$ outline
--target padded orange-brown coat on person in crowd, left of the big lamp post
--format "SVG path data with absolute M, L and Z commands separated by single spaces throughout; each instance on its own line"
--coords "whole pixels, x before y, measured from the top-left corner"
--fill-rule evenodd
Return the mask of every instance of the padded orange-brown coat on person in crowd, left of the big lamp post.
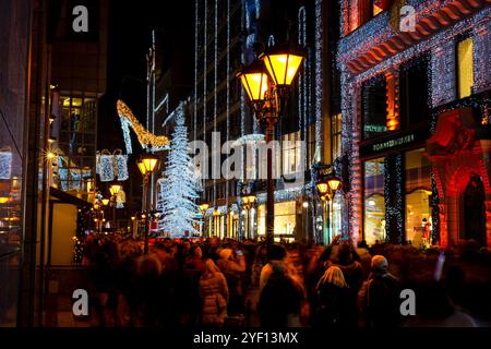
M 214 273 L 200 278 L 203 300 L 203 324 L 223 324 L 227 311 L 228 287 L 224 274 Z

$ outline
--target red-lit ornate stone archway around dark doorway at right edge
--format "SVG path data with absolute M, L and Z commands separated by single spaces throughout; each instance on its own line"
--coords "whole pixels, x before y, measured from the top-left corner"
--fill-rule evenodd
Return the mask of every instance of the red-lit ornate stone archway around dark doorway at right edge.
M 471 176 L 484 186 L 486 242 L 491 245 L 491 141 L 476 140 L 471 111 L 456 109 L 439 116 L 436 131 L 427 142 L 440 198 L 440 244 L 464 239 L 463 200 Z

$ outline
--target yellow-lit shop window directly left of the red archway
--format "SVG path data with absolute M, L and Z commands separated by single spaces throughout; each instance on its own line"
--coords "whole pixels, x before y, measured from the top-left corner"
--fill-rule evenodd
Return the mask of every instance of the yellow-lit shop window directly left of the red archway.
M 422 244 L 428 244 L 432 230 L 431 167 L 423 149 L 407 152 L 405 164 L 406 240 L 417 248 L 422 248 Z

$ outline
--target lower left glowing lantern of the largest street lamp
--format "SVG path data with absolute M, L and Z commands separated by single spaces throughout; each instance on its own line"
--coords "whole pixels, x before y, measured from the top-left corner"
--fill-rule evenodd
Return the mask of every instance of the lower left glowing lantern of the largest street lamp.
M 252 103 L 263 101 L 268 89 L 268 79 L 261 61 L 241 69 L 237 77 L 240 79 L 243 88 Z

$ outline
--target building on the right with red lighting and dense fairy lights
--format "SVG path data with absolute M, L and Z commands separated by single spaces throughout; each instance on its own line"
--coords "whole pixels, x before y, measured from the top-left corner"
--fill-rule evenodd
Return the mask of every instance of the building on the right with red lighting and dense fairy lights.
M 490 1 L 339 3 L 351 238 L 490 245 Z

